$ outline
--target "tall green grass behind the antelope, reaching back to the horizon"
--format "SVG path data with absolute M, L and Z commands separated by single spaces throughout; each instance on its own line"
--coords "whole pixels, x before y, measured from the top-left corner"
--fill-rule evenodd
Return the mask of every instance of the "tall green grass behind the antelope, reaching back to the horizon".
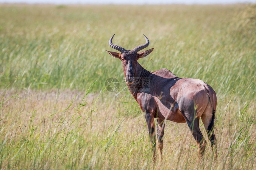
M 114 51 L 109 38 L 116 33 L 113 42 L 132 49 L 144 33 L 155 48 L 139 61 L 146 69 L 202 79 L 219 94 L 255 94 L 255 29 L 238 24 L 244 5 L 0 8 L 1 88 L 82 90 L 98 80 L 99 92 L 108 77 L 123 77 L 104 51 Z

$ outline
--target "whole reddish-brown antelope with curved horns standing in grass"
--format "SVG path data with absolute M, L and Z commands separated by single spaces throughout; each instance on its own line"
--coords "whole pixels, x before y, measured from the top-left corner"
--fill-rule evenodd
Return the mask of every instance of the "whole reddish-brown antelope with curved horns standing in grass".
M 122 61 L 128 89 L 145 113 L 154 161 L 156 145 L 160 151 L 160 157 L 163 158 L 163 135 L 166 120 L 188 124 L 199 147 L 199 157 L 202 157 L 206 141 L 199 128 L 200 118 L 207 131 L 215 158 L 217 158 L 217 143 L 214 134 L 217 97 L 212 87 L 199 79 L 179 78 L 168 69 L 152 72 L 144 69 L 138 60 L 149 55 L 154 48 L 143 52 L 139 51 L 149 46 L 149 39 L 143 34 L 146 39 L 145 44 L 132 50 L 126 50 L 112 43 L 114 35 L 110 38 L 109 45 L 121 53 L 106 51 Z M 140 81 L 142 79 L 150 80 L 150 83 L 135 82 L 138 78 Z M 157 143 L 154 118 L 157 119 Z

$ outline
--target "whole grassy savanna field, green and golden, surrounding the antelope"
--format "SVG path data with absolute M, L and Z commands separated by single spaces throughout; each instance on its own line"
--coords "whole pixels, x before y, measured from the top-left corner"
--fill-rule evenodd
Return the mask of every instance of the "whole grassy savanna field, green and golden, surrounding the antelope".
M 0 169 L 256 169 L 256 6 L 0 5 Z M 105 50 L 150 41 L 139 63 L 216 91 L 218 159 L 166 122 L 163 160 Z M 105 81 L 120 81 L 116 92 Z M 155 121 L 156 123 L 156 121 Z M 157 152 L 159 153 L 159 152 Z

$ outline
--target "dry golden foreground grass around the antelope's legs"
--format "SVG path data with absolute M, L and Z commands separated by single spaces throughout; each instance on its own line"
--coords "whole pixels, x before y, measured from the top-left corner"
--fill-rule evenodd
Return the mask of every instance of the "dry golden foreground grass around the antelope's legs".
M 4 101 L 15 94 L 7 90 L 1 98 Z M 226 109 L 227 116 L 219 121 L 216 132 L 216 162 L 208 140 L 204 158 L 199 161 L 198 148 L 187 124 L 167 121 L 163 161 L 154 165 L 144 116 L 132 116 L 134 110 L 123 108 L 131 102 L 124 103 L 127 97 L 120 96 L 89 94 L 82 102 L 84 94 L 77 91 L 19 92 L 19 97 L 7 100 L 1 108 L 1 167 L 255 169 L 254 106 L 246 108 L 243 114 L 244 105 L 237 102 L 232 101 L 228 107 L 218 104 L 217 116 L 221 110 L 225 114 Z M 137 103 L 132 105 L 136 107 Z M 207 136 L 205 130 L 202 133 Z

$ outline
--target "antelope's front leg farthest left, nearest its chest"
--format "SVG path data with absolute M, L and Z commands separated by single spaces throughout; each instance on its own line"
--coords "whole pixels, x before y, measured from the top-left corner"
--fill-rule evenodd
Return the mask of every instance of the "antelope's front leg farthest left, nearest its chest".
M 146 122 L 149 128 L 149 138 L 151 141 L 151 147 L 153 152 L 153 159 L 155 162 L 156 155 L 156 133 L 155 133 L 155 124 L 154 124 L 154 115 L 152 113 L 145 114 Z

